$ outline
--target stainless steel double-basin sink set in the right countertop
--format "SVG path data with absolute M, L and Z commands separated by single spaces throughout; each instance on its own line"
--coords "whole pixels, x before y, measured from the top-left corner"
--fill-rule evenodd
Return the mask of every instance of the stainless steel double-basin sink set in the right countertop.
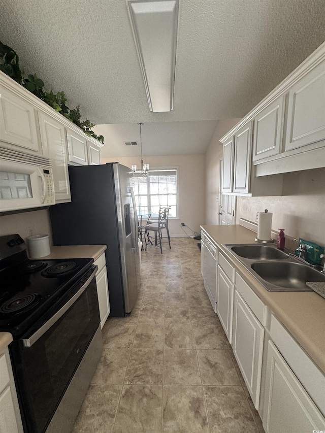
M 236 257 L 268 291 L 312 291 L 306 282 L 325 282 L 325 275 L 274 244 L 226 244 Z

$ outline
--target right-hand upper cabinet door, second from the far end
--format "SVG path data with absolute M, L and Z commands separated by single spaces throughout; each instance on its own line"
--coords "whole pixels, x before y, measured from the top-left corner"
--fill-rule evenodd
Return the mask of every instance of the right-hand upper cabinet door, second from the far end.
M 249 122 L 235 134 L 233 192 L 249 192 L 251 146 L 252 122 Z

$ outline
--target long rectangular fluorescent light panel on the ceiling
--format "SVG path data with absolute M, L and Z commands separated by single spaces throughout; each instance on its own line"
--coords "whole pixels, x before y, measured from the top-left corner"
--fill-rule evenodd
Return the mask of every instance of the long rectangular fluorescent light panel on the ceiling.
M 149 109 L 174 103 L 179 0 L 127 0 Z

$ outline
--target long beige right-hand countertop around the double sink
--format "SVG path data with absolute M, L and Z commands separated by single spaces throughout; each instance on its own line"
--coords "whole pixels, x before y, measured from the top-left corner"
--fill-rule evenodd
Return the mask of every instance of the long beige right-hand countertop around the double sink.
M 222 244 L 255 243 L 256 233 L 241 225 L 203 225 L 241 277 L 325 373 L 325 299 L 315 292 L 269 292 Z

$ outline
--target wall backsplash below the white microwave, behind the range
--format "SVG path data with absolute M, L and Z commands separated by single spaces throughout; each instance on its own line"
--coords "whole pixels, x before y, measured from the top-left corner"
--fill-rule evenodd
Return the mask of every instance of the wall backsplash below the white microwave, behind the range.
M 26 241 L 27 236 L 29 236 L 28 228 L 34 229 L 35 235 L 50 235 L 52 245 L 52 230 L 48 210 L 0 216 L 0 236 L 18 233 Z

